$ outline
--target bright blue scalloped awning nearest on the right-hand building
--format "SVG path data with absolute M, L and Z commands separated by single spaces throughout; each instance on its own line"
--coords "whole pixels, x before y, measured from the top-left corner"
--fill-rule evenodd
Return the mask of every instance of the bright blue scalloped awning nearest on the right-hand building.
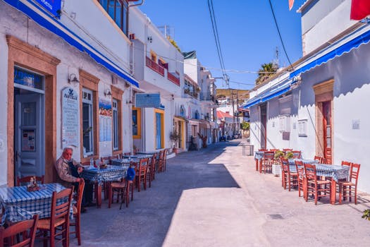
M 319 54 L 316 54 L 316 56 L 318 56 L 317 59 L 293 71 L 292 73 L 290 73 L 289 77 L 293 78 L 295 76 L 300 75 L 300 73 L 304 73 L 316 66 L 320 66 L 321 64 L 327 63 L 331 59 L 334 59 L 336 56 L 341 56 L 344 53 L 348 53 L 352 49 L 358 48 L 361 44 L 366 44 L 369 41 L 370 41 L 370 30 L 364 32 L 362 35 L 355 37 L 353 40 L 345 42 L 345 44 L 340 45 L 340 47 L 337 47 L 331 50 L 330 52 L 327 52 L 326 54 L 323 54 L 321 56 Z

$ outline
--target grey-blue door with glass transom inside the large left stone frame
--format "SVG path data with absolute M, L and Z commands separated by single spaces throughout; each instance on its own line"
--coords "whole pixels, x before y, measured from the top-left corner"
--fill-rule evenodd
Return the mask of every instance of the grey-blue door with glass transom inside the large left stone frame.
M 14 69 L 14 182 L 45 174 L 44 78 Z

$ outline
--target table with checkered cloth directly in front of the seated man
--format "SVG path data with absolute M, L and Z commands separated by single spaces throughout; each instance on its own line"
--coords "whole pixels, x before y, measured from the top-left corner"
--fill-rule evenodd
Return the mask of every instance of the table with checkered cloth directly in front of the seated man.
M 97 198 L 97 207 L 101 207 L 101 183 L 120 181 L 123 177 L 126 176 L 128 166 L 115 166 L 107 165 L 106 168 L 90 168 L 86 167 L 80 176 L 83 179 L 90 180 L 92 183 L 95 183 L 97 189 L 95 190 L 95 195 Z

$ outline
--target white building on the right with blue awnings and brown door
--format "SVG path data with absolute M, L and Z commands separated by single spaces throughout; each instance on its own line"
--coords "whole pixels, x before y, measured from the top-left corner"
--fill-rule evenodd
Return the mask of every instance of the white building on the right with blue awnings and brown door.
M 361 164 L 359 189 L 370 192 L 370 26 L 350 20 L 350 0 L 306 1 L 304 57 L 251 92 L 251 143 L 290 147 L 305 158 Z

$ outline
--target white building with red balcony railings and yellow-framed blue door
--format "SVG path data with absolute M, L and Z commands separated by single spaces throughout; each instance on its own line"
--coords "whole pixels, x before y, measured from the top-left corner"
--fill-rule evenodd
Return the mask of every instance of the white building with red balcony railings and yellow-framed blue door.
M 132 98 L 133 143 L 145 151 L 171 148 L 170 135 L 175 126 L 185 133 L 183 119 L 175 119 L 175 99 L 181 97 L 184 85 L 183 54 L 138 8 L 130 9 L 129 20 L 132 68 L 140 81 L 140 90 L 134 90 L 134 95 L 145 92 L 160 99 L 156 106 L 139 107 Z M 185 138 L 180 144 L 185 148 Z

